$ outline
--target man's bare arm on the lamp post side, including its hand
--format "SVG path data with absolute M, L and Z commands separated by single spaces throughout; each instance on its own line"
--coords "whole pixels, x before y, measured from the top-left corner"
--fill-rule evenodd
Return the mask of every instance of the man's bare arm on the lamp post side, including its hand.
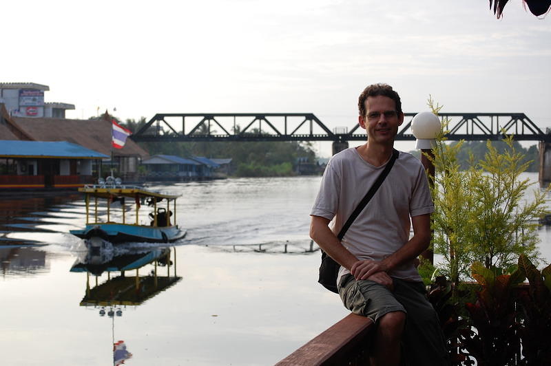
M 350 272 L 355 279 L 368 279 L 377 272 L 388 272 L 402 266 L 408 261 L 413 261 L 430 245 L 430 213 L 411 218 L 413 225 L 413 237 L 392 255 L 382 261 L 357 261 Z

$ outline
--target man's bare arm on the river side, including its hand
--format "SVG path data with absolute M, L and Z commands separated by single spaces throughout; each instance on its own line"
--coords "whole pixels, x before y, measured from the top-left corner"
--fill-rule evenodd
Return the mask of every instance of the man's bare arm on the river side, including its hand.
M 357 266 L 357 263 L 362 263 L 364 261 L 358 260 L 355 255 L 353 255 L 348 249 L 344 248 L 340 240 L 337 238 L 337 235 L 331 231 L 329 228 L 329 219 L 321 216 L 312 216 L 310 223 L 310 237 L 315 241 L 324 252 L 333 258 L 337 263 L 339 263 L 344 268 L 351 270 L 354 266 Z M 351 270 L 352 275 L 355 279 L 360 279 L 354 275 Z M 364 277 L 362 279 L 370 279 L 377 283 L 386 286 L 387 288 L 393 288 L 393 281 L 386 272 L 375 271 L 371 275 Z

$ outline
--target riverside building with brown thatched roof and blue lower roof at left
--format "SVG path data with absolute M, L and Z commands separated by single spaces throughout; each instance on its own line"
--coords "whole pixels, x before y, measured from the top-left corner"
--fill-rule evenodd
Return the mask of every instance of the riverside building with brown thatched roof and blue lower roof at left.
M 15 140 L 71 143 L 101 154 L 101 157 L 63 155 L 63 144 L 51 145 L 56 146 L 55 154 L 50 153 L 48 157 L 44 157 L 30 148 L 50 147 L 49 144 L 22 143 L 19 147 Z M 14 147 L 18 147 L 18 150 L 21 148 L 21 151 L 10 153 Z M 0 103 L 0 150 L 2 148 L 4 154 L 0 154 L 0 189 L 12 184 L 10 182 L 14 182 L 14 175 L 18 175 L 17 186 L 20 187 L 25 184 L 30 184 L 30 188 L 32 184 L 43 185 L 45 188 L 82 185 L 89 180 L 91 182 L 92 177 L 105 177 L 111 166 L 114 166 L 117 176 L 124 182 L 135 182 L 139 180 L 139 164 L 143 159 L 149 158 L 147 151 L 130 139 L 127 139 L 122 149 L 112 148 L 111 116 L 104 115 L 94 120 L 16 117 L 10 116 Z M 103 167 L 102 160 L 107 160 L 109 166 Z M 2 183 L 2 180 L 7 182 Z M 38 183 L 32 183 L 34 181 Z

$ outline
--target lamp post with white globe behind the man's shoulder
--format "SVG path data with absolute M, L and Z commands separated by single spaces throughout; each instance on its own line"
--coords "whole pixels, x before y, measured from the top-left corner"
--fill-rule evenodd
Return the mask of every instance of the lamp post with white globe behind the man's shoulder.
M 433 163 L 435 155 L 433 148 L 436 146 L 436 136 L 438 136 L 440 129 L 440 120 L 432 112 L 418 113 L 411 120 L 411 131 L 413 132 L 413 136 L 417 138 L 415 148 L 421 149 L 421 163 L 428 175 L 428 184 L 430 184 L 431 188 L 435 179 L 435 164 Z M 422 253 L 422 256 L 428 259 L 430 263 L 434 263 L 433 250 L 426 250 Z

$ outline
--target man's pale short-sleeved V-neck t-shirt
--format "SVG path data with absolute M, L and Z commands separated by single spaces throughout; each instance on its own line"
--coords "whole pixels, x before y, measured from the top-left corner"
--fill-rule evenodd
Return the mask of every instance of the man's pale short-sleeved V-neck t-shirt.
M 332 220 L 330 227 L 337 235 L 384 166 L 386 163 L 369 164 L 355 147 L 337 153 L 326 166 L 310 215 Z M 400 151 L 390 173 L 344 235 L 342 245 L 358 259 L 381 261 L 409 240 L 410 216 L 433 211 L 421 162 Z M 350 273 L 349 270 L 341 267 L 337 281 L 346 273 Z M 421 281 L 413 262 L 395 268 L 388 275 Z

